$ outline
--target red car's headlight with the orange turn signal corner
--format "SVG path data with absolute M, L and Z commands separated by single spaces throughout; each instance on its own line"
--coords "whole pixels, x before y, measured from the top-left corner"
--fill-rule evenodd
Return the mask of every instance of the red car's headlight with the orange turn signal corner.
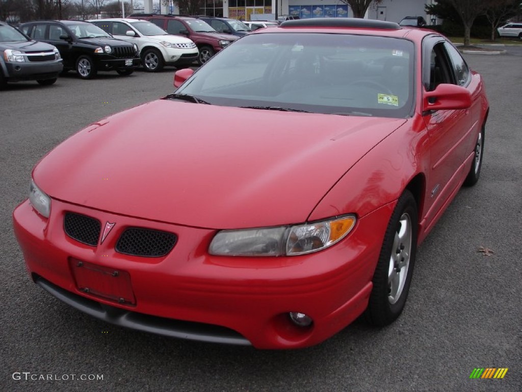
M 355 221 L 354 215 L 346 215 L 295 226 L 221 230 L 212 239 L 209 253 L 219 256 L 305 255 L 328 248 L 346 237 Z

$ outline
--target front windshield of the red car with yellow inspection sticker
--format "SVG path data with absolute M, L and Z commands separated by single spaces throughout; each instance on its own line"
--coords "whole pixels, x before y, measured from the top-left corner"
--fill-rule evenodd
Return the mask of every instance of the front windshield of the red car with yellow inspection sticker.
M 413 50 L 396 38 L 250 34 L 176 93 L 211 105 L 405 118 L 413 105 Z

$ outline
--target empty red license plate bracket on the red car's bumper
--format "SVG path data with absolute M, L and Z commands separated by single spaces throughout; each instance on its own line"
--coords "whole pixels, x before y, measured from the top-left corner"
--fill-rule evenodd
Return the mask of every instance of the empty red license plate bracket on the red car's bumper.
M 127 271 L 69 259 L 76 287 L 82 293 L 108 299 L 122 305 L 136 305 L 131 275 Z

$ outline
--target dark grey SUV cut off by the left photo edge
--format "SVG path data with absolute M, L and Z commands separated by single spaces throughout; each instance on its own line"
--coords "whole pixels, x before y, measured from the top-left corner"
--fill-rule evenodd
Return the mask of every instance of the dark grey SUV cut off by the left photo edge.
M 53 45 L 31 41 L 14 27 L 0 22 L 0 90 L 7 82 L 18 80 L 51 85 L 62 68 L 60 52 Z

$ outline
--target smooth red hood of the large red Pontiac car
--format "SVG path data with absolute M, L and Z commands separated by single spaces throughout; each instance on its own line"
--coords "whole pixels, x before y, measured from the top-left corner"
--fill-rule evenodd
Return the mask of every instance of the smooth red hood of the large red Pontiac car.
M 300 223 L 405 122 L 157 100 L 70 137 L 33 178 L 52 198 L 150 220 L 222 229 Z

